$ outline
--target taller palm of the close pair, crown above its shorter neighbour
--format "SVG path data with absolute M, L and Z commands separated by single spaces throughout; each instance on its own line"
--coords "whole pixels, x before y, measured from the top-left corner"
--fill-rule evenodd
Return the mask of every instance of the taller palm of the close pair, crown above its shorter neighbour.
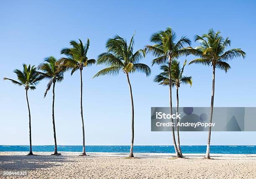
M 165 64 L 168 61 L 168 74 L 169 74 L 169 97 L 170 97 L 170 110 L 172 115 L 172 79 L 171 79 L 171 68 L 172 60 L 178 59 L 179 56 L 188 55 L 191 53 L 192 47 L 184 47 L 190 45 L 190 40 L 186 36 L 182 36 L 179 41 L 176 41 L 176 33 L 172 28 L 166 28 L 165 31 L 159 31 L 153 33 L 150 41 L 154 44 L 153 46 L 146 46 L 146 52 L 152 53 L 156 56 L 156 59 L 152 60 L 152 66 L 154 64 Z M 173 122 L 173 119 L 171 119 Z M 177 157 L 181 157 L 174 134 L 174 127 L 172 127 L 172 140 L 174 143 L 174 149 Z

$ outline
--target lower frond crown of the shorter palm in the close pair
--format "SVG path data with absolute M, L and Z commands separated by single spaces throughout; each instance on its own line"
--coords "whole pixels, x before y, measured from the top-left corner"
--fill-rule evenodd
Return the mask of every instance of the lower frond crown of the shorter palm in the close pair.
M 179 64 L 179 61 L 173 60 L 172 61 L 172 69 L 171 69 L 171 79 L 172 79 L 172 87 L 180 87 L 180 84 L 190 84 L 192 85 L 192 77 L 189 76 L 183 76 L 184 73 L 184 67 L 187 63 L 187 60 L 185 60 L 182 68 Z M 168 72 L 168 66 L 162 65 L 160 67 L 161 73 L 159 75 L 156 75 L 154 78 L 154 82 L 158 82 L 162 85 L 169 85 L 169 72 Z

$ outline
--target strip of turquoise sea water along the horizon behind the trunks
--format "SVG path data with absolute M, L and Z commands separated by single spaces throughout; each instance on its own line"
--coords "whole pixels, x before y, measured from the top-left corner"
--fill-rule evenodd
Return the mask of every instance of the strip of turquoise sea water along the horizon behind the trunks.
M 182 153 L 205 153 L 206 146 L 181 146 Z M 0 146 L 1 151 L 29 151 L 29 146 Z M 33 146 L 33 151 L 51 152 L 54 146 Z M 58 146 L 58 151 L 81 152 L 82 146 Z M 86 146 L 87 152 L 128 153 L 130 146 Z M 211 146 L 211 153 L 256 154 L 256 146 Z M 133 152 L 174 153 L 173 146 L 134 146 Z

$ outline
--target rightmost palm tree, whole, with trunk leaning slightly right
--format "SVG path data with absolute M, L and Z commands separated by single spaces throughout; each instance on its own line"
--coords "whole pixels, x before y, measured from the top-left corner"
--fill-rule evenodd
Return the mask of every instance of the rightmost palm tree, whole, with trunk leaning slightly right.
M 236 57 L 242 56 L 245 58 L 246 53 L 241 49 L 225 49 L 230 46 L 230 39 L 223 38 L 220 35 L 220 31 L 216 32 L 210 29 L 207 34 L 202 36 L 195 36 L 195 41 L 200 42 L 200 46 L 193 49 L 193 54 L 199 56 L 199 59 L 195 59 L 189 62 L 189 64 L 202 64 L 206 66 L 212 66 L 212 97 L 211 97 L 211 110 L 210 110 L 210 123 L 212 123 L 213 113 L 213 100 L 215 90 L 215 69 L 225 70 L 230 69 L 230 65 L 226 62 Z M 211 126 L 208 130 L 208 141 L 205 159 L 210 159 L 210 140 L 211 140 Z

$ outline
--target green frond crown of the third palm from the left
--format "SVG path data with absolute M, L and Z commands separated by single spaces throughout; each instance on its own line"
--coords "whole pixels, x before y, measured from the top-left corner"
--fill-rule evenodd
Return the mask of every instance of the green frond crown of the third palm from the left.
M 87 39 L 87 43 L 83 44 L 79 39 L 79 42 L 70 41 L 72 48 L 64 48 L 61 50 L 61 54 L 66 55 L 66 58 L 61 58 L 60 63 L 62 66 L 66 66 L 71 69 L 71 75 L 78 69 L 83 69 L 83 67 L 91 66 L 95 64 L 95 59 L 87 58 L 87 52 L 90 46 L 90 40 Z

